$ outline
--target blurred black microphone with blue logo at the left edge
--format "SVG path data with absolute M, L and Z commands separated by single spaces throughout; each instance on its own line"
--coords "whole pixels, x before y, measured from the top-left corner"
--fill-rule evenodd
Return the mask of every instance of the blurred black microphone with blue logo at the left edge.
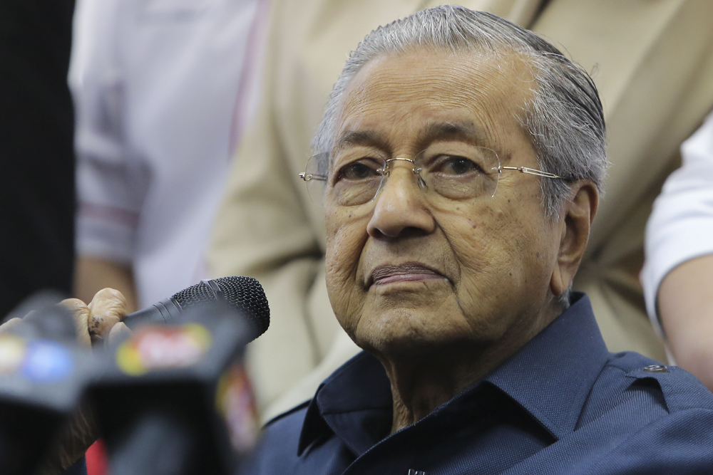
M 34 473 L 91 377 L 69 310 L 39 308 L 0 335 L 0 472 Z

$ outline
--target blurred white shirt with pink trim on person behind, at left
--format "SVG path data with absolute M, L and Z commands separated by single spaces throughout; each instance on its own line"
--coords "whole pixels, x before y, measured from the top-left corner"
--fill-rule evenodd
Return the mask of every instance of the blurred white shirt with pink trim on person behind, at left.
M 204 276 L 259 1 L 78 1 L 77 251 L 132 266 L 140 306 Z

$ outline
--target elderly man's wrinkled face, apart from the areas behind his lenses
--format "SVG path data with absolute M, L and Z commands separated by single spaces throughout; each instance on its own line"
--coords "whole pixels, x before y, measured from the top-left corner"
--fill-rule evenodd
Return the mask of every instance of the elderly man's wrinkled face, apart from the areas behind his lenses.
M 480 146 L 503 166 L 538 168 L 518 122 L 532 79 L 514 54 L 377 58 L 345 91 L 335 143 L 387 158 Z M 410 162 L 390 167 L 372 202 L 340 206 L 327 192 L 327 287 L 354 341 L 413 353 L 537 333 L 560 237 L 538 178 L 506 171 L 494 197 L 433 199 Z

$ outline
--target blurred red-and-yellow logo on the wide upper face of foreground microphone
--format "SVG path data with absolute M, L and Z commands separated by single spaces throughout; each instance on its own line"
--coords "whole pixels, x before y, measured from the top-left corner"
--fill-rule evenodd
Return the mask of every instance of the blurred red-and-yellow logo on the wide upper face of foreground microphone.
M 210 332 L 197 323 L 144 327 L 116 350 L 116 365 L 130 376 L 151 370 L 190 367 L 210 348 Z

